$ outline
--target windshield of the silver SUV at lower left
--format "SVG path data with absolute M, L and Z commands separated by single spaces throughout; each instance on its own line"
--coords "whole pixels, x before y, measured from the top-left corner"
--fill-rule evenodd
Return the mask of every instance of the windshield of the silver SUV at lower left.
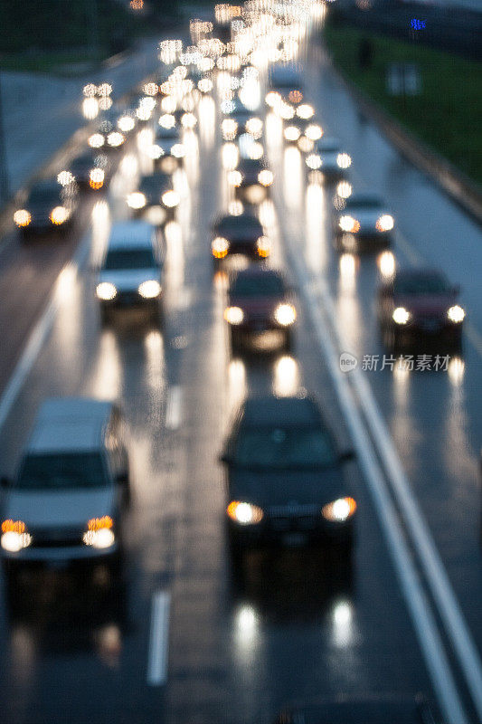
M 17 481 L 17 487 L 26 491 L 101 488 L 108 484 L 98 452 L 30 455 Z

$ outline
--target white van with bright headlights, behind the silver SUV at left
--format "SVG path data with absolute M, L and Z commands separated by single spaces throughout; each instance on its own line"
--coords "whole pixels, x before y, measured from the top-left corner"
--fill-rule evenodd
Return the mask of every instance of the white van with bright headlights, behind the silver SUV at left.
M 160 319 L 163 273 L 164 246 L 156 227 L 137 220 L 114 224 L 96 286 L 102 319 L 129 308 Z

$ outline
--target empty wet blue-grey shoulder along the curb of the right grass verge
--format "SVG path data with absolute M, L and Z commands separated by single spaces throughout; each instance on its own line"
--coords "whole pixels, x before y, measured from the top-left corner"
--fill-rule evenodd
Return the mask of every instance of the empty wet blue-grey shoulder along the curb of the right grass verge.
M 309 50 L 307 98 L 315 103 L 326 133 L 343 141 L 353 157 L 354 173 L 366 189 L 383 195 L 421 261 L 446 270 L 450 280 L 461 286 L 461 299 L 480 334 L 482 310 L 475 273 L 482 268 L 480 227 L 362 116 L 336 80 L 316 38 Z

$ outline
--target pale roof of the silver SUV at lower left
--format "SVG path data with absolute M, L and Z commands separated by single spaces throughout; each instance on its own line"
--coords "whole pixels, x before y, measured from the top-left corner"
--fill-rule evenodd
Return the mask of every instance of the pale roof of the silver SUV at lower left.
M 86 397 L 48 399 L 37 413 L 27 452 L 96 450 L 111 411 L 111 403 Z

